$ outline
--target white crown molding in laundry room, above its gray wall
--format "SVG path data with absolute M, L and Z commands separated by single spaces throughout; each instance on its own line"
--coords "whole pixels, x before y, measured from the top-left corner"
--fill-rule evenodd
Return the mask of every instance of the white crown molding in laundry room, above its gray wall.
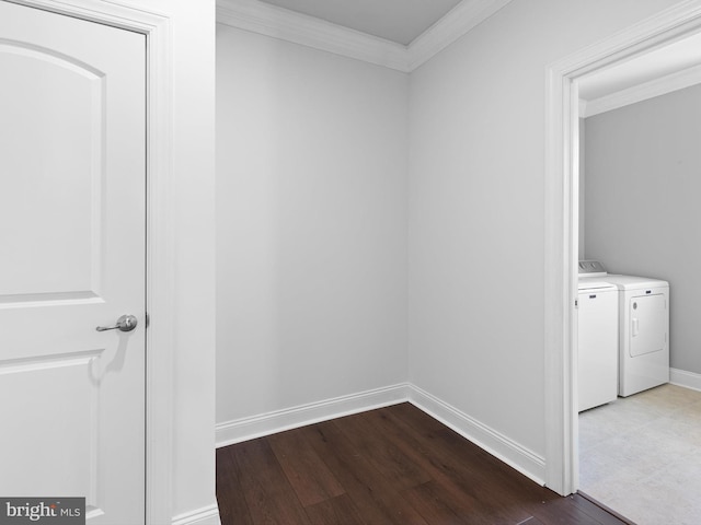
M 683 90 L 699 83 L 701 83 L 701 66 L 694 66 L 617 93 L 587 101 L 586 108 L 582 115 L 584 117 L 593 117 L 594 115 L 618 109 L 655 96 L 666 95 L 673 91 Z

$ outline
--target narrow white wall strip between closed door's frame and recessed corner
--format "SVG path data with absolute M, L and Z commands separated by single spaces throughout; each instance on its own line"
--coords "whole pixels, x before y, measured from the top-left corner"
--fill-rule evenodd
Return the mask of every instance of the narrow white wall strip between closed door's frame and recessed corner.
M 215 2 L 173 13 L 173 200 L 177 209 L 173 513 L 216 505 Z M 204 525 L 204 524 L 203 524 Z

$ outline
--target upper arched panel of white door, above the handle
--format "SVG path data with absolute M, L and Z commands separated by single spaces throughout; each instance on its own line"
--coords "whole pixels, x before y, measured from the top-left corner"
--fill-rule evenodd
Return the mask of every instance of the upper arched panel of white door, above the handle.
M 90 291 L 99 281 L 105 78 L 21 42 L 0 44 L 0 70 L 15 78 L 0 86 L 3 121 L 14 122 L 0 127 L 3 172 L 13 178 L 0 194 L 13 219 L 0 225 L 4 299 Z

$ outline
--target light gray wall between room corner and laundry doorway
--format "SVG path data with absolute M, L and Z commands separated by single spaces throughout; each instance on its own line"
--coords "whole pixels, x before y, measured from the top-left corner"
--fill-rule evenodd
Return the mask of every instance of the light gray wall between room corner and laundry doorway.
M 545 68 L 674 4 L 514 1 L 410 80 L 410 382 L 544 456 Z

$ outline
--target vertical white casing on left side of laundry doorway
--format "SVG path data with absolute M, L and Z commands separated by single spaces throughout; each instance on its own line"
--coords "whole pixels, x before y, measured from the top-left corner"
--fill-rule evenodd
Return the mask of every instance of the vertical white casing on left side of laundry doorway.
M 574 173 L 570 152 L 573 105 L 572 83 L 564 84 L 561 68 L 552 67 L 548 74 L 547 139 L 545 139 L 545 485 L 562 495 L 574 491 L 571 485 L 576 475 L 574 436 L 576 418 L 572 384 L 575 360 L 568 352 L 554 349 L 572 348 L 574 341 L 574 301 L 572 275 L 576 264 L 574 229 Z M 577 98 L 575 98 L 577 100 Z M 578 126 L 577 126 L 578 127 Z M 563 130 L 568 130 L 563 135 Z M 576 411 L 574 412 L 576 413 Z

